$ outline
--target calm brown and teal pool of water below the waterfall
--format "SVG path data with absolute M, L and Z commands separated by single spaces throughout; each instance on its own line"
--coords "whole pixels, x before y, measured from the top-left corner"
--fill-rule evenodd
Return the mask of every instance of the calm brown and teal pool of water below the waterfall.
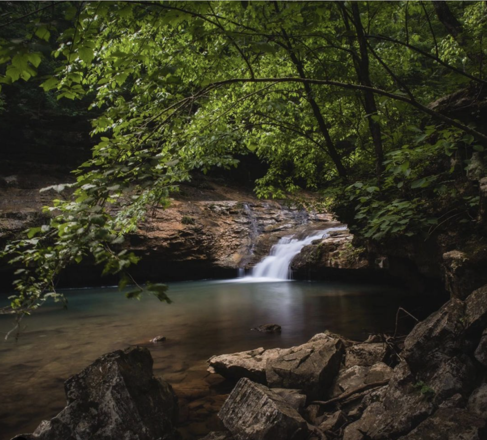
M 218 428 L 216 411 L 231 387 L 206 373 L 210 356 L 290 347 L 325 329 L 362 339 L 369 332 L 394 331 L 399 306 L 424 317 L 439 304 L 391 287 L 304 281 L 172 283 L 171 305 L 149 296 L 127 300 L 110 287 L 65 293 L 68 310 L 45 305 L 25 320 L 17 343 L 0 342 L 1 439 L 32 432 L 59 412 L 70 375 L 104 353 L 137 344 L 150 348 L 155 374 L 173 384 L 183 436 L 199 438 Z M 6 297 L 0 305 L 7 304 Z M 281 325 L 282 334 L 250 331 L 266 323 Z M 0 316 L 1 332 L 11 324 L 11 317 Z M 147 343 L 157 335 L 167 341 Z

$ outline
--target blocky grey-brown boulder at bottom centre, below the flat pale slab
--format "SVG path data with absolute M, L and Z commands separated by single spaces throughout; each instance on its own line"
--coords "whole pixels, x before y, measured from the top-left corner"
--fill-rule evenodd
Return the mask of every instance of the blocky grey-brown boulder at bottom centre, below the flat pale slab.
M 268 387 L 240 379 L 218 413 L 236 440 L 304 440 L 306 421 Z

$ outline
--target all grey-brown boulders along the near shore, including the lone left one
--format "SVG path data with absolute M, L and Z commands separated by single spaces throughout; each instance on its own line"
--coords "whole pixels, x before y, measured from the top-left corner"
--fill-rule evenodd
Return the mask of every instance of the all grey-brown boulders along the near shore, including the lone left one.
M 292 348 L 209 359 L 237 380 L 205 440 L 487 438 L 487 285 L 451 299 L 405 338 L 330 332 Z M 16 440 L 176 440 L 172 387 L 147 348 L 106 354 L 65 383 L 67 406 Z

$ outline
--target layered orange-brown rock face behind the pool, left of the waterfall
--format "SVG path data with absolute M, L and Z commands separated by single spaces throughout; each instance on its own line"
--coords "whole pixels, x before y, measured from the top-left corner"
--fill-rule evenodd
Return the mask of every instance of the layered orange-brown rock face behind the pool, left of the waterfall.
M 28 227 L 49 221 L 40 214 L 41 208 L 60 195 L 54 190 L 40 193 L 39 189 L 66 182 L 65 179 L 66 176 L 52 174 L 0 175 L 0 184 L 5 184 L 0 185 L 0 246 Z M 143 257 L 132 269 L 142 282 L 155 277 L 233 277 L 237 268 L 249 268 L 266 256 L 282 236 L 334 224 L 328 214 L 312 214 L 298 206 L 258 200 L 245 189 L 195 178 L 191 184 L 181 185 L 168 208 L 148 213 L 123 246 Z M 68 268 L 61 275 L 61 284 L 109 281 L 101 281 L 97 268 L 88 262 L 83 264 Z M 2 265 L 0 270 L 7 272 L 11 268 Z M 7 274 L 2 277 L 6 287 L 10 287 L 8 278 Z

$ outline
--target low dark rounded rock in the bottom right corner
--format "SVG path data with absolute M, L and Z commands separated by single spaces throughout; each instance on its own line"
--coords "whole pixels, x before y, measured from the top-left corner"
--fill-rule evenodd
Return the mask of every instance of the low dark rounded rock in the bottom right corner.
M 464 409 L 439 409 L 399 440 L 482 440 L 485 419 Z

